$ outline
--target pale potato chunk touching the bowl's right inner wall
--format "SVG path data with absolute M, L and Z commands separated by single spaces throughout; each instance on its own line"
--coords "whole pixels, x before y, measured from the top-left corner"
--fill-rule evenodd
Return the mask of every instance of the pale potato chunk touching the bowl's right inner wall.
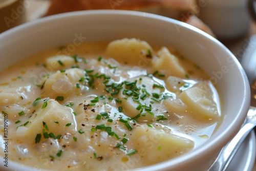
M 219 112 L 217 102 L 214 100 L 216 95 L 214 90 L 210 82 L 200 82 L 194 87 L 183 91 L 180 94 L 180 99 L 195 116 L 216 118 Z

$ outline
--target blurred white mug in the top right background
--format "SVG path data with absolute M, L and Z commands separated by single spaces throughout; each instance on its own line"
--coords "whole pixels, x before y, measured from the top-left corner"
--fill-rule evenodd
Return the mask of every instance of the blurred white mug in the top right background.
M 250 27 L 255 0 L 198 0 L 199 17 L 217 38 L 231 39 L 245 35 Z M 251 14 L 251 16 L 250 16 Z M 256 20 L 256 15 L 254 16 Z

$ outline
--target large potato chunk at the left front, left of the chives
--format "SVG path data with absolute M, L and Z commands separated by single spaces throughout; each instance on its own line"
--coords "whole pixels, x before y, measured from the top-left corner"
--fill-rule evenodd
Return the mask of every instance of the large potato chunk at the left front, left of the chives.
M 31 143 L 35 141 L 37 134 L 43 134 L 43 129 L 56 136 L 75 131 L 76 122 L 71 110 L 53 99 L 49 99 L 47 101 L 47 106 L 41 109 L 43 103 L 43 100 L 37 102 L 34 106 L 34 112 L 32 112 L 31 117 L 27 120 L 28 123 L 25 125 L 22 123 L 23 125 L 17 128 L 17 136 L 28 138 L 28 141 Z M 48 125 L 49 129 L 47 129 L 47 126 L 45 126 L 44 123 Z M 71 123 L 71 125 L 66 126 L 68 123 Z

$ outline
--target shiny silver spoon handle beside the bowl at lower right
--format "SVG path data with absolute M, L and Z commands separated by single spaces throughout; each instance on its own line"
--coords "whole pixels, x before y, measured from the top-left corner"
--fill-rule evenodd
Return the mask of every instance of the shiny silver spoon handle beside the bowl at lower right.
M 255 113 L 255 108 L 250 108 L 249 112 Z M 255 123 L 250 122 L 250 120 L 246 120 L 243 126 L 241 127 L 238 134 L 226 144 L 221 153 L 219 154 L 215 163 L 208 170 L 216 170 L 216 171 L 224 171 L 227 169 L 230 161 L 232 160 L 234 154 L 238 151 L 238 148 L 251 132 L 251 130 L 255 127 Z

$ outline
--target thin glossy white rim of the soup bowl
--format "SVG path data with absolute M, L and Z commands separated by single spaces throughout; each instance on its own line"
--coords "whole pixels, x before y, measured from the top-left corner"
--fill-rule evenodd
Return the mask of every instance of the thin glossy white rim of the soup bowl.
M 234 64 L 237 66 L 238 70 L 240 71 L 240 74 L 243 78 L 243 86 L 245 88 L 244 90 L 244 100 L 243 103 L 241 104 L 241 110 L 238 111 L 237 113 L 239 114 L 238 116 L 240 117 L 236 117 L 234 118 L 232 124 L 230 124 L 227 129 L 221 133 L 220 135 L 218 135 L 214 140 L 211 140 L 208 143 L 204 143 L 203 145 L 200 146 L 200 148 L 194 149 L 193 151 L 182 155 L 181 157 L 177 157 L 175 159 L 169 160 L 169 161 L 164 161 L 161 163 L 157 163 L 151 166 L 146 166 L 143 167 L 143 170 L 148 170 L 148 169 L 154 169 L 154 170 L 162 170 L 165 169 L 167 167 L 170 166 L 178 166 L 178 165 L 183 165 L 186 164 L 188 162 L 193 162 L 196 159 L 199 159 L 200 157 L 202 158 L 202 152 L 204 152 L 205 150 L 207 150 L 209 153 L 215 154 L 218 152 L 218 150 L 221 149 L 220 145 L 224 145 L 225 143 L 227 143 L 227 140 L 223 141 L 223 138 L 226 137 L 226 133 L 231 131 L 234 123 L 237 124 L 237 122 L 243 123 L 243 121 L 241 121 L 241 117 L 244 119 L 246 117 L 246 112 L 249 109 L 249 97 L 250 97 L 250 89 L 249 89 L 249 83 L 248 83 L 248 79 L 247 76 L 243 70 L 243 68 L 241 67 L 239 61 L 237 60 L 237 58 L 228 50 L 228 48 L 226 48 L 219 40 L 217 40 L 216 38 L 210 36 L 209 34 L 205 33 L 204 31 L 191 26 L 189 24 L 183 23 L 179 20 L 173 19 L 173 18 L 168 18 L 165 16 L 160 16 L 157 14 L 152 14 L 152 13 L 146 13 L 146 12 L 138 12 L 138 11 L 129 11 L 129 10 L 87 10 L 87 11 L 75 11 L 75 12 L 67 12 L 67 13 L 61 13 L 61 14 L 56 14 L 56 15 L 51 15 L 51 16 L 46 16 L 46 17 L 42 17 L 39 18 L 37 20 L 33 20 L 31 22 L 19 25 L 17 27 L 11 28 L 10 30 L 7 30 L 3 33 L 0 34 L 0 42 L 2 39 L 5 39 L 6 37 L 12 36 L 13 34 L 18 34 L 20 31 L 25 31 L 26 29 L 36 26 L 36 25 L 42 25 L 42 24 L 47 24 L 48 22 L 51 22 L 53 20 L 58 20 L 60 18 L 70 18 L 70 17 L 77 17 L 77 16 L 89 16 L 89 15 L 129 15 L 129 16 L 143 16 L 143 17 L 147 17 L 150 19 L 158 19 L 161 20 L 161 22 L 167 22 L 167 23 L 172 23 L 175 24 L 177 26 L 183 27 L 185 29 L 191 30 L 194 33 L 193 34 L 198 34 L 200 36 L 203 36 L 205 38 L 208 39 L 208 41 L 211 41 L 213 44 L 216 44 L 217 46 L 219 46 L 221 49 L 223 49 L 227 55 L 229 55 L 231 57 L 231 59 L 233 60 Z M 244 113 L 244 115 L 242 115 L 242 113 Z M 239 128 L 237 128 L 237 130 L 232 130 L 231 135 L 229 135 L 229 138 L 231 138 L 231 136 L 233 136 L 237 131 L 239 130 Z M 216 143 L 219 143 L 219 146 L 216 146 Z M 222 142 L 222 143 L 220 143 Z M 214 147 L 212 147 L 214 146 Z M 189 161 L 188 161 L 189 160 Z M 14 162 L 16 163 L 16 162 Z M 20 166 L 20 163 L 17 163 L 17 166 Z M 31 167 L 28 167 L 31 168 Z

